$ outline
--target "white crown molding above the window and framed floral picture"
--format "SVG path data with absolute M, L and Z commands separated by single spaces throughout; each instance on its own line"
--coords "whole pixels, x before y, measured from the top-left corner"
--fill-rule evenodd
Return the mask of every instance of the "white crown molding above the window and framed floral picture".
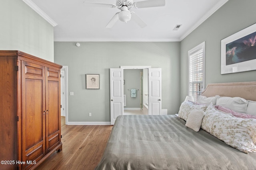
M 207 20 L 214 12 L 216 12 L 220 7 L 222 7 L 224 4 L 226 4 L 228 0 L 221 0 L 216 4 L 214 7 L 212 7 L 211 10 L 209 10 L 200 20 L 198 20 L 186 33 L 180 37 L 179 41 L 182 41 L 186 36 L 188 36 L 192 31 L 194 31 L 199 25 L 201 25 L 205 20 Z

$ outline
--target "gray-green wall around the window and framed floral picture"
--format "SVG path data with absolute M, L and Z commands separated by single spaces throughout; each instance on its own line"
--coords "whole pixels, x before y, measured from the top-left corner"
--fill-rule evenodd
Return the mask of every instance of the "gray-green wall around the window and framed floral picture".
M 219 82 L 256 81 L 256 70 L 220 74 L 220 41 L 254 23 L 256 0 L 229 0 L 180 44 L 180 102 L 188 93 L 188 50 L 206 42 L 206 85 Z

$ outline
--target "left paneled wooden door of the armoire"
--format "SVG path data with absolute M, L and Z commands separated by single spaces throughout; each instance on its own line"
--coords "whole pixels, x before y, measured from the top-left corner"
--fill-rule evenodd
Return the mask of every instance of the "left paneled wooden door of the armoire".
M 22 61 L 22 161 L 38 162 L 46 154 L 45 110 L 45 67 Z

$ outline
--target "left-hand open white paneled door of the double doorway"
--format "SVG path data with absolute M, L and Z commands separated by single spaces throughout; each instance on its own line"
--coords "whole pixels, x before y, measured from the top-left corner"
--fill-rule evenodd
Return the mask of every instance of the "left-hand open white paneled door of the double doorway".
M 123 68 L 110 68 L 110 118 L 114 125 L 116 117 L 124 115 Z

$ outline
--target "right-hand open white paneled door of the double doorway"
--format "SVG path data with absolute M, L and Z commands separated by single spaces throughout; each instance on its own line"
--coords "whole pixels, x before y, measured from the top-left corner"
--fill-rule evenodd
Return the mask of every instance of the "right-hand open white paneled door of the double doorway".
M 160 115 L 162 110 L 162 69 L 148 68 L 148 114 Z

